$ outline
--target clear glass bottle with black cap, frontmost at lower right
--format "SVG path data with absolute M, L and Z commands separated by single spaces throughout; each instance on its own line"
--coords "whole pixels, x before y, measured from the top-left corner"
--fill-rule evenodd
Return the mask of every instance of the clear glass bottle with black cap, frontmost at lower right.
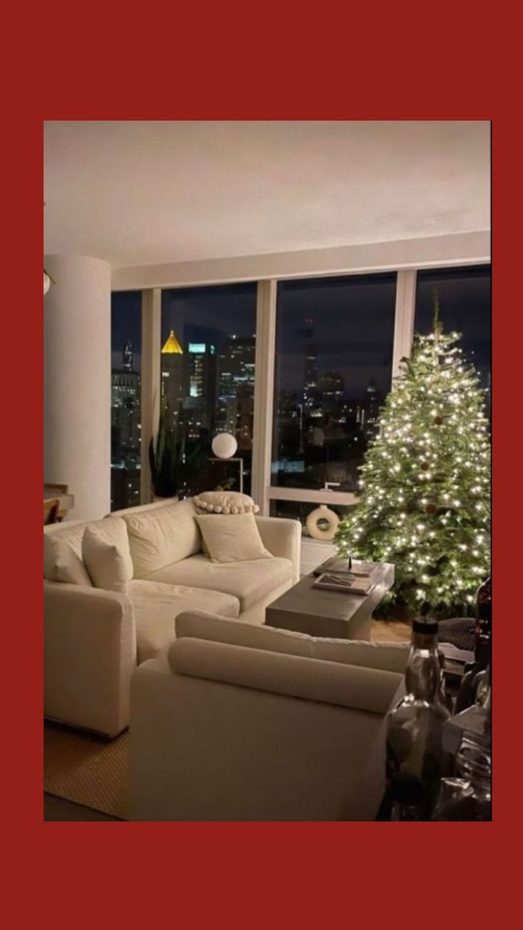
M 440 697 L 438 621 L 416 618 L 405 671 L 405 697 L 387 715 L 386 774 L 393 820 L 430 820 L 448 758 L 442 724 L 451 716 Z

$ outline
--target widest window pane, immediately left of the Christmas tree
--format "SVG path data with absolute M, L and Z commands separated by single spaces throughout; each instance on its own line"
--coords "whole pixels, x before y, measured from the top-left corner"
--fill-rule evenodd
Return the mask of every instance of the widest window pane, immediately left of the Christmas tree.
M 307 491 L 354 492 L 390 390 L 396 273 L 278 288 L 271 512 L 303 521 Z M 300 489 L 302 500 L 277 498 Z M 295 497 L 295 495 L 294 495 Z

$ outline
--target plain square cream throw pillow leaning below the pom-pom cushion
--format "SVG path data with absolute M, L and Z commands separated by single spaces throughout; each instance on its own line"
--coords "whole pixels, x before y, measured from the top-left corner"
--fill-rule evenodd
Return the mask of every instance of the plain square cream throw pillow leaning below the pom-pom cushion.
M 212 562 L 272 558 L 262 542 L 254 513 L 239 513 L 234 520 L 222 513 L 196 519 Z

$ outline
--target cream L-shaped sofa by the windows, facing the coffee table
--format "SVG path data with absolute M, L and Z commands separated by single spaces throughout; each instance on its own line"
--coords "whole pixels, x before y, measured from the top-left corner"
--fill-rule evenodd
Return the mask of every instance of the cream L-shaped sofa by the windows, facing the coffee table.
M 255 517 L 272 557 L 216 565 L 202 551 L 195 517 L 189 499 L 45 527 L 82 559 L 87 525 L 111 542 L 114 521 L 123 521 L 132 560 L 126 593 L 92 587 L 88 577 L 63 583 L 54 580 L 57 565 L 45 539 L 46 717 L 116 736 L 129 723 L 132 672 L 175 638 L 179 613 L 196 609 L 262 624 L 267 604 L 298 580 L 296 521 Z

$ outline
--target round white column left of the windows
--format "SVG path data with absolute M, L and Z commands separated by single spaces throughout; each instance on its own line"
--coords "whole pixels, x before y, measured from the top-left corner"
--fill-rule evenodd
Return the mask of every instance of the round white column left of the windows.
M 111 510 L 111 266 L 46 256 L 44 479 L 68 484 L 73 519 Z

